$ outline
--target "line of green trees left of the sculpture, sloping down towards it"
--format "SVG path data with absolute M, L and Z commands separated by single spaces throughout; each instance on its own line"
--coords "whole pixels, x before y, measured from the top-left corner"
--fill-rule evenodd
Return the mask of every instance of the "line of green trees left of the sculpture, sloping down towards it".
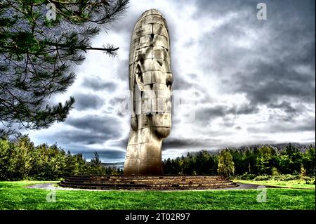
M 0 180 L 59 180 L 70 175 L 122 174 L 121 169 L 103 166 L 95 152 L 91 162 L 82 154 L 65 152 L 57 144 L 34 147 L 29 137 L 0 139 Z

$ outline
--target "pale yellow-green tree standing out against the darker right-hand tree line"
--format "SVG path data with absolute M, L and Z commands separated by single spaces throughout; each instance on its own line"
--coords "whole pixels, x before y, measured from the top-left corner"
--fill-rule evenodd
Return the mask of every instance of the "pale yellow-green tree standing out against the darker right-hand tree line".
M 218 156 L 218 174 L 228 178 L 235 175 L 235 164 L 228 149 L 220 151 Z

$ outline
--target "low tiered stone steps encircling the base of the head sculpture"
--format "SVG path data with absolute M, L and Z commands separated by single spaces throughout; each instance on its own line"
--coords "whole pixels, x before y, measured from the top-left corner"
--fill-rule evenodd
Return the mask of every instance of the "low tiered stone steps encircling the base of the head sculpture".
M 237 186 L 220 176 L 70 176 L 59 185 L 96 190 L 202 190 Z

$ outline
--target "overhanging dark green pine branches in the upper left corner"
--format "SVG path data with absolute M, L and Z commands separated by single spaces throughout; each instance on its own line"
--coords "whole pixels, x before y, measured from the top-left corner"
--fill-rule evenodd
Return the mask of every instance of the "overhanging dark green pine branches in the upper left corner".
M 66 119 L 74 98 L 63 105 L 46 99 L 74 82 L 70 68 L 84 61 L 86 51 L 117 53 L 111 44 L 93 47 L 90 40 L 124 13 L 128 2 L 0 1 L 0 121 L 6 126 L 0 136 L 13 133 L 13 124 L 41 129 Z

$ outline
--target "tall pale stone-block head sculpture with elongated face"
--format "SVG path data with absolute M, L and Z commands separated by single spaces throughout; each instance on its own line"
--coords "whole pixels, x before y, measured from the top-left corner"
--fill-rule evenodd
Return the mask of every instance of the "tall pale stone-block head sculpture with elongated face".
M 161 175 L 162 140 L 171 131 L 170 42 L 166 20 L 145 11 L 131 37 L 129 88 L 133 111 L 124 175 Z

